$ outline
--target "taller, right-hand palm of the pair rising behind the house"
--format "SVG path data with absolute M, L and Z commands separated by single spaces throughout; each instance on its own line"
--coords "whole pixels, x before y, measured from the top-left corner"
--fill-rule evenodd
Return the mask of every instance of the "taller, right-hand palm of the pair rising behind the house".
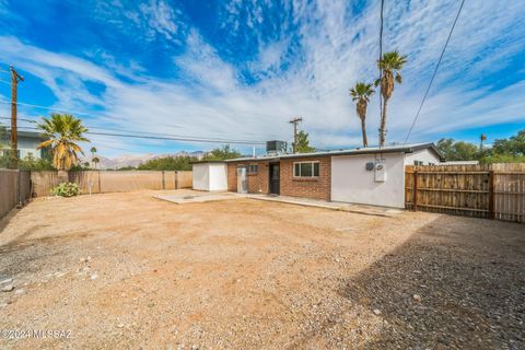
M 383 96 L 383 110 L 381 114 L 381 126 L 380 126 L 380 147 L 385 145 L 386 138 L 386 112 L 388 100 L 394 92 L 394 81 L 401 83 L 402 78 L 399 71 L 402 69 L 402 66 L 407 62 L 407 56 L 400 55 L 399 51 L 389 51 L 383 54 L 383 57 L 377 61 L 377 67 L 382 70 L 382 79 L 375 81 L 377 86 L 381 83 L 381 95 Z M 394 78 L 395 75 L 395 78 Z

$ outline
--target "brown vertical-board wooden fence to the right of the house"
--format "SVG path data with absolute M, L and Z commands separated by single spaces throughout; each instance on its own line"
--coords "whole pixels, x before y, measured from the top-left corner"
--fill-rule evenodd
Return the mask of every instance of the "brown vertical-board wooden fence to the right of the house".
M 405 206 L 525 222 L 525 163 L 406 166 Z

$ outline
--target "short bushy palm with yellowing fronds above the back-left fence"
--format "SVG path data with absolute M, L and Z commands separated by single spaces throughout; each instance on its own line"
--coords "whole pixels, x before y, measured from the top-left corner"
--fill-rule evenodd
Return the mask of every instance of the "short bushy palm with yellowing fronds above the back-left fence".
M 37 145 L 37 149 L 51 148 L 52 165 L 58 171 L 69 171 L 79 163 L 78 153 L 84 154 L 77 142 L 89 142 L 82 135 L 88 129 L 82 120 L 70 114 L 51 114 L 51 118 L 42 118 L 38 128 L 48 140 Z

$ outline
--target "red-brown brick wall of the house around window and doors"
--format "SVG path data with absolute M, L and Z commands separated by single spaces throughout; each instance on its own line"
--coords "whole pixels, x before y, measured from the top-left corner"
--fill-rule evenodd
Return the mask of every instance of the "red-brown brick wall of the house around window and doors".
M 294 178 L 293 162 L 319 162 L 319 177 L 317 178 Z M 248 164 L 258 164 L 259 172 L 257 174 L 248 174 L 248 192 L 250 194 L 268 194 L 269 191 L 269 162 L 232 162 L 228 163 L 228 189 L 237 190 L 237 172 L 238 165 L 248 166 Z M 330 200 L 330 182 L 331 182 L 331 162 L 329 156 L 323 158 L 301 158 L 301 159 L 281 159 L 281 195 L 303 198 L 314 198 Z

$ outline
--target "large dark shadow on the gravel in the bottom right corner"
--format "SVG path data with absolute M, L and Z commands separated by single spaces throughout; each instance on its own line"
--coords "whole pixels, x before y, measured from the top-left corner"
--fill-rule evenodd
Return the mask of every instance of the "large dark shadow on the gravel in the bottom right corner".
M 366 348 L 523 349 L 524 266 L 525 225 L 443 215 L 340 293 L 384 319 Z

